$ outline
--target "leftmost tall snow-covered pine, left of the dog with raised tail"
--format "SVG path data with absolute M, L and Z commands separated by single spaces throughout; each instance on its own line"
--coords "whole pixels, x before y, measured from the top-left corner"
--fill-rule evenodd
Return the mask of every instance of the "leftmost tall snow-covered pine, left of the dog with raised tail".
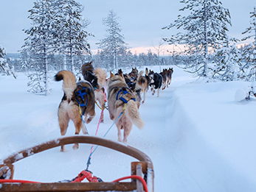
M 29 53 L 32 60 L 30 68 L 30 92 L 41 95 L 49 94 L 49 74 L 48 74 L 48 55 L 57 49 L 55 40 L 55 30 L 53 19 L 55 10 L 52 7 L 54 0 L 38 0 L 30 12 L 32 26 L 24 30 L 28 35 L 25 39 L 21 53 Z

